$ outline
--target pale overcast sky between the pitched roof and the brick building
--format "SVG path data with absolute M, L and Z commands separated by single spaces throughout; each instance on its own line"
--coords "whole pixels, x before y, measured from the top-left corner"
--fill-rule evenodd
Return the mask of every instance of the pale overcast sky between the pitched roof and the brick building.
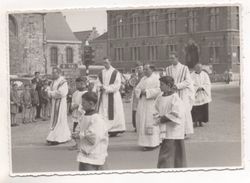
M 68 10 L 63 14 L 73 32 L 91 30 L 92 27 L 96 27 L 100 34 L 107 31 L 106 9 Z

